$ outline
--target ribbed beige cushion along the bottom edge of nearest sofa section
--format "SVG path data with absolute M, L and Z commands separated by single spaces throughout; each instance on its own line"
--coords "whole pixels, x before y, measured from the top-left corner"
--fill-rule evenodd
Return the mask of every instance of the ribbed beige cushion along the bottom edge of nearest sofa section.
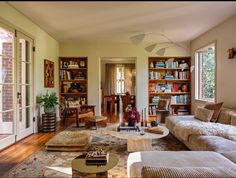
M 145 178 L 226 178 L 235 177 L 236 169 L 227 167 L 150 167 L 142 168 L 142 177 Z

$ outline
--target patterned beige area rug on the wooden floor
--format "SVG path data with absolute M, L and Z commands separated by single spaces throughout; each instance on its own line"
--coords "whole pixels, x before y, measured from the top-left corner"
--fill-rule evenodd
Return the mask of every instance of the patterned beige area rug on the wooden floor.
M 81 128 L 76 128 L 75 125 L 67 129 L 73 131 L 81 130 Z M 105 128 L 91 130 L 91 134 L 93 135 L 93 139 L 88 151 L 103 149 L 119 155 L 119 162 L 114 168 L 108 171 L 108 177 L 127 177 L 126 162 L 129 153 L 127 152 L 126 140 L 110 136 Z M 153 140 L 153 148 L 157 151 L 188 150 L 188 148 L 171 134 L 164 138 Z M 13 168 L 4 177 L 71 178 L 71 161 L 81 153 L 82 152 L 52 152 L 42 148 Z

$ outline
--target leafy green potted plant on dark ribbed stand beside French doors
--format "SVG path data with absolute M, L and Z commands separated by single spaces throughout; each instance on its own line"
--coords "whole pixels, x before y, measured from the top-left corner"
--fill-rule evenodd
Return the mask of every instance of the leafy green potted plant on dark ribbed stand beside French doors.
M 58 97 L 56 92 L 49 93 L 47 91 L 44 95 L 37 96 L 37 103 L 44 107 L 45 113 L 55 113 L 58 105 Z

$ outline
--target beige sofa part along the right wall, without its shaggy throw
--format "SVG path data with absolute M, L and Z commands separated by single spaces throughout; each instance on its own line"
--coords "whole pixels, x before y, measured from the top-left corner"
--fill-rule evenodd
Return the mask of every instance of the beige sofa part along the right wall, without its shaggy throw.
M 189 149 L 194 151 L 216 151 L 224 153 L 227 151 L 236 151 L 236 141 L 221 137 L 219 135 L 201 135 L 192 134 L 189 135 L 188 139 L 184 139 L 183 136 L 177 132 L 177 126 L 181 124 L 180 122 L 191 121 L 194 123 L 205 124 L 205 122 L 196 119 L 193 115 L 188 116 L 169 116 L 166 117 L 166 127 L 169 131 L 183 142 Z M 217 123 L 226 125 L 234 125 L 236 128 L 236 112 L 235 110 L 222 108 L 220 114 L 217 118 Z M 215 124 L 215 123 L 210 123 Z M 222 127 L 223 128 L 223 127 Z M 182 132 L 185 130 L 183 129 Z

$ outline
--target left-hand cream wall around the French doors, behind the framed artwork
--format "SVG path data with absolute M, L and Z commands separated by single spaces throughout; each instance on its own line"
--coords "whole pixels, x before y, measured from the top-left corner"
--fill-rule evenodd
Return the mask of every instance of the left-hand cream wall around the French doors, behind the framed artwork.
M 36 47 L 34 53 L 34 99 L 37 94 L 44 93 L 46 90 L 58 92 L 58 42 L 5 2 L 0 2 L 0 18 L 2 23 L 17 28 L 19 31 L 29 34 L 34 38 L 34 46 Z M 54 62 L 54 88 L 44 88 L 44 59 Z M 34 110 L 35 116 L 37 116 L 36 106 Z M 37 128 L 37 125 L 35 125 L 35 128 Z

